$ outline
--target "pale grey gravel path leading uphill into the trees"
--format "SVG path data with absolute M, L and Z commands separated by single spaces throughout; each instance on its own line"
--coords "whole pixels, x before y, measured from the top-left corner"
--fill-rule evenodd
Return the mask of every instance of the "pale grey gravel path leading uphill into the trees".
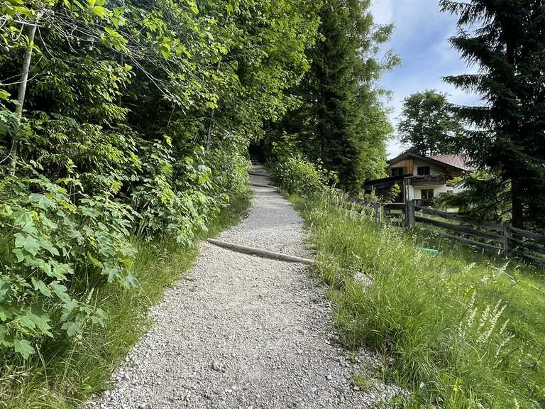
M 308 256 L 297 212 L 275 190 L 254 189 L 248 218 L 219 239 Z M 351 383 L 356 366 L 373 358 L 359 354 L 352 364 L 336 346 L 325 291 L 297 263 L 203 243 L 187 277 L 150 312 L 153 329 L 112 391 L 89 407 L 374 408 L 377 393 Z

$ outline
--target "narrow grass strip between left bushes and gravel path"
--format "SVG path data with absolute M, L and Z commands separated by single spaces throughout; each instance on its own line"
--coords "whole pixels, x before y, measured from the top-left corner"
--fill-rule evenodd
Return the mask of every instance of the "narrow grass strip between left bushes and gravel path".
M 248 205 L 248 200 L 233 202 L 201 238 L 237 222 Z M 108 386 L 111 371 L 149 328 L 149 307 L 197 257 L 197 244 L 184 247 L 171 239 L 137 246 L 134 273 L 139 287 L 106 286 L 94 293 L 94 301 L 108 314 L 106 328 L 91 327 L 79 339 L 50 342 L 35 359 L 6 367 L 0 373 L 1 409 L 78 408 L 90 394 Z

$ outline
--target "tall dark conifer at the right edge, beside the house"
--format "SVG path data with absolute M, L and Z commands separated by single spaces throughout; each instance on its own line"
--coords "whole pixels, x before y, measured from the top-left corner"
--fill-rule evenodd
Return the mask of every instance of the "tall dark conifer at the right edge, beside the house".
M 441 0 L 458 14 L 451 44 L 479 68 L 446 82 L 480 95 L 480 107 L 456 107 L 468 121 L 462 145 L 480 168 L 510 180 L 512 224 L 544 222 L 545 4 L 535 0 Z

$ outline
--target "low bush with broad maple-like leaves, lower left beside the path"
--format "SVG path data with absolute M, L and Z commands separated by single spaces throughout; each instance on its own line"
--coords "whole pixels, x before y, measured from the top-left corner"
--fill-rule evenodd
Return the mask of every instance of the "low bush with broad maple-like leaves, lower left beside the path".
M 130 287 L 135 249 L 128 207 L 45 178 L 0 183 L 0 350 L 27 357 L 42 337 L 70 337 L 104 312 L 86 299 L 101 281 Z M 55 319 L 54 319 L 55 318 Z

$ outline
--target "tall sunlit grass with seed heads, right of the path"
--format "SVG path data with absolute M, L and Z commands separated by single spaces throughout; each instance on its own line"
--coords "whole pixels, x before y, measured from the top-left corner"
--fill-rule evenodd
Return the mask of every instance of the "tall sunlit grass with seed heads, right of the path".
M 378 226 L 331 197 L 292 197 L 347 347 L 389 359 L 404 408 L 544 408 L 544 272 Z M 360 280 L 363 275 L 370 285 Z M 359 378 L 367 376 L 358 374 Z

